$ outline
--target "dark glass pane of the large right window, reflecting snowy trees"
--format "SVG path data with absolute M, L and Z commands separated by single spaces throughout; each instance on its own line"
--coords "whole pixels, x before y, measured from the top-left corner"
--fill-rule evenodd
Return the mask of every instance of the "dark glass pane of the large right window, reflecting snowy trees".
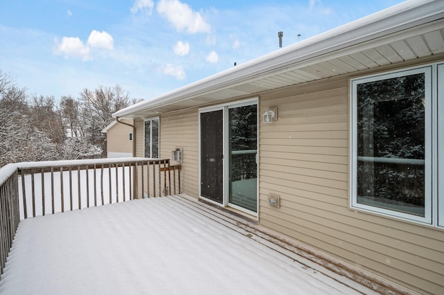
M 357 201 L 425 215 L 425 75 L 357 85 Z

